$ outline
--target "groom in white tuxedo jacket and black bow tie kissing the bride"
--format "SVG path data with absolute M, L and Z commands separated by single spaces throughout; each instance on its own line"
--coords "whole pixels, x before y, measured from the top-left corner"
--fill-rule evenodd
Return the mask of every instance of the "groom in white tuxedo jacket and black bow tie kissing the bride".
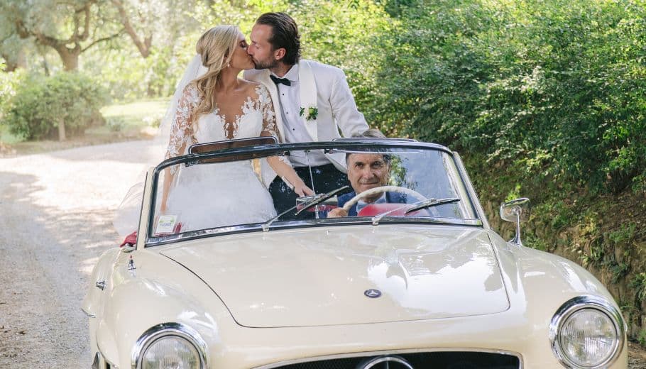
M 287 143 L 331 141 L 351 137 L 368 129 L 354 102 L 342 70 L 312 60 L 300 60 L 300 35 L 296 22 L 285 13 L 264 13 L 251 30 L 247 53 L 256 70 L 244 78 L 264 84 L 276 111 L 280 141 Z M 290 157 L 305 184 L 317 193 L 349 184 L 344 156 L 322 150 L 310 158 Z M 312 166 L 310 180 L 309 166 Z M 269 187 L 276 211 L 294 206 L 297 195 L 280 178 Z

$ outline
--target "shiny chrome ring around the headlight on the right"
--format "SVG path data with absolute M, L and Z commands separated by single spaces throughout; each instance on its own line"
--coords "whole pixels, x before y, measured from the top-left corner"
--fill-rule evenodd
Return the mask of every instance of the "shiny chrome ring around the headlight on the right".
M 613 348 L 612 355 L 609 356 L 608 359 L 603 363 L 600 363 L 596 366 L 585 367 L 586 369 L 607 368 L 619 358 L 621 351 L 623 351 L 623 346 L 625 344 L 625 322 L 619 310 L 616 309 L 610 302 L 608 302 L 607 299 L 600 296 L 584 294 L 569 299 L 568 301 L 564 302 L 561 307 L 559 307 L 557 312 L 554 313 L 552 321 L 549 324 L 549 343 L 552 346 L 552 352 L 554 353 L 554 356 L 556 356 L 557 359 L 559 359 L 559 361 L 566 368 L 584 368 L 572 363 L 564 355 L 562 351 L 563 349 L 559 344 L 559 332 L 561 331 L 564 322 L 572 314 L 582 309 L 597 309 L 606 314 L 611 319 L 611 321 L 613 321 L 615 331 L 617 332 L 617 342 L 615 344 L 615 347 Z

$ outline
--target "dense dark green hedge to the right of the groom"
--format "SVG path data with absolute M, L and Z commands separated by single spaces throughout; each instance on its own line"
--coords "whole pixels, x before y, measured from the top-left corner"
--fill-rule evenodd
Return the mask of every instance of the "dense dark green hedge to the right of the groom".
M 373 124 L 528 175 L 645 188 L 644 1 L 395 3 Z

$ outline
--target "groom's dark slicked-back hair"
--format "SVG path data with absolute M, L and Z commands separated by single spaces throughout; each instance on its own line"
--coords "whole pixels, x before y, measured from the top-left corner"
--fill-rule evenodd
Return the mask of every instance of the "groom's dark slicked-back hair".
M 264 13 L 258 17 L 256 24 L 264 24 L 271 27 L 271 38 L 269 43 L 273 50 L 284 48 L 285 57 L 283 62 L 287 65 L 295 65 L 300 59 L 300 35 L 298 26 L 292 17 L 286 13 Z

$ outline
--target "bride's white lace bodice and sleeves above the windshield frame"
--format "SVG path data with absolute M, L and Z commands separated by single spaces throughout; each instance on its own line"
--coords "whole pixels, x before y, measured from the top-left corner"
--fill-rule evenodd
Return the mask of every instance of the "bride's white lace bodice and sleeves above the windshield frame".
M 196 123 L 191 123 L 192 111 L 199 104 L 201 97 L 197 88 L 189 84 L 177 102 L 175 119 L 170 127 L 170 141 L 165 158 L 172 158 L 187 153 L 190 145 L 213 141 L 250 138 L 258 136 L 278 136 L 275 113 L 269 91 L 262 84 L 255 88 L 256 97 L 248 96 L 241 106 L 241 115 L 235 119 L 222 116 L 216 107 L 209 114 L 200 116 Z M 228 121 L 229 120 L 229 121 Z

